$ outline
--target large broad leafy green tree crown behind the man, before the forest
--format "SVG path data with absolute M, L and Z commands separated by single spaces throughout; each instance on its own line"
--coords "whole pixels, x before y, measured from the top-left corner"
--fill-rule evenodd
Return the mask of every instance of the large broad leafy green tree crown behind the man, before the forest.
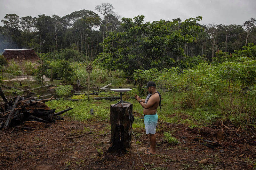
M 133 70 L 173 66 L 172 55 L 184 55 L 184 43 L 196 40 L 203 28 L 196 24 L 202 17 L 189 18 L 184 22 L 159 20 L 143 24 L 144 16 L 122 18 L 124 32 L 110 32 L 104 39 L 100 57 L 103 65 L 123 70 L 132 75 Z M 180 29 L 175 29 L 179 27 Z

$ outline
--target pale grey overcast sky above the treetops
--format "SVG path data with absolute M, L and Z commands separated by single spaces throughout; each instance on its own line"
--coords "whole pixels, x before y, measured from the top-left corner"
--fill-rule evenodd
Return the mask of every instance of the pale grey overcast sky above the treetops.
M 179 17 L 184 21 L 200 15 L 203 17 L 200 24 L 229 25 L 256 18 L 256 0 L 0 0 L 0 20 L 7 13 L 16 13 L 19 17 L 38 14 L 63 17 L 82 9 L 97 12 L 95 6 L 102 3 L 112 4 L 121 17 L 144 15 L 145 21 Z

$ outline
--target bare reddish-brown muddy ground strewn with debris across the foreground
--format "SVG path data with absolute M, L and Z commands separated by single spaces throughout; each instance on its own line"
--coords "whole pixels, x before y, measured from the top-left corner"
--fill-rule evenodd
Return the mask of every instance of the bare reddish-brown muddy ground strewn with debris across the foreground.
M 191 129 L 161 120 L 157 129 L 156 155 L 144 154 L 149 145 L 144 129 L 135 132 L 140 157 L 148 169 L 253 169 L 255 164 L 253 136 L 248 141 L 243 136 L 233 138 L 225 134 L 225 139 L 220 140 L 215 137 L 217 130 L 214 128 Z M 80 122 L 64 117 L 64 120 L 47 124 L 45 129 L 10 133 L 11 130 L 0 132 L 0 169 L 144 168 L 133 137 L 132 147 L 126 154 L 106 154 L 110 140 L 108 121 Z M 170 145 L 164 141 L 163 132 L 167 130 L 173 132 L 180 144 Z M 68 139 L 86 131 L 93 133 Z M 211 149 L 202 144 L 204 139 L 217 141 L 220 146 Z M 208 163 L 200 165 L 198 161 L 201 159 L 207 159 Z

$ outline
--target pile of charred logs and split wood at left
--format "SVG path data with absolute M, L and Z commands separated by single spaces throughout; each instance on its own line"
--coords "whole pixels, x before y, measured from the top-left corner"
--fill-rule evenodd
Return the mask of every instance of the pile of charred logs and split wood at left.
M 23 98 L 20 95 L 12 98 L 9 102 L 0 105 L 0 130 L 8 128 L 42 129 L 45 123 L 63 119 L 58 116 L 73 108 L 68 108 L 55 113 L 55 109 L 49 108 L 44 102 L 54 98 L 36 100 L 33 97 Z M 13 129 L 13 130 L 14 130 Z

